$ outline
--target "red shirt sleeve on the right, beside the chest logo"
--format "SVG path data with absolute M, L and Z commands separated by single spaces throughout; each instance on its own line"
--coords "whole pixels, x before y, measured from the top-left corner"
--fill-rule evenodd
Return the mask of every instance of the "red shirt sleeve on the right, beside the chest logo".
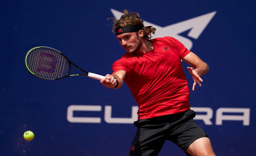
M 177 50 L 177 53 L 180 59 L 183 59 L 191 51 L 188 50 L 180 41 L 173 37 L 165 37 L 168 44 L 170 44 L 174 49 Z

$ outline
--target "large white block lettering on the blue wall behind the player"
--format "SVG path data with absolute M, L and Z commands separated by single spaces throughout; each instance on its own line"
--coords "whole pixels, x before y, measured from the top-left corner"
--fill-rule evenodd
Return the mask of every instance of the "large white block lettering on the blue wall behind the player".
M 212 125 L 210 121 L 213 110 L 209 107 L 191 107 L 195 112 L 205 112 L 198 114 L 194 120 L 202 120 L 206 125 Z M 67 120 L 73 123 L 101 123 L 100 117 L 74 117 L 74 111 L 102 111 L 101 105 L 70 105 L 67 109 Z M 106 123 L 131 124 L 138 119 L 138 106 L 132 106 L 131 118 L 113 118 L 112 106 L 105 106 L 104 121 Z M 223 115 L 223 113 L 242 113 L 243 115 Z M 250 108 L 219 108 L 216 111 L 216 125 L 222 125 L 223 120 L 243 121 L 244 126 L 250 125 Z

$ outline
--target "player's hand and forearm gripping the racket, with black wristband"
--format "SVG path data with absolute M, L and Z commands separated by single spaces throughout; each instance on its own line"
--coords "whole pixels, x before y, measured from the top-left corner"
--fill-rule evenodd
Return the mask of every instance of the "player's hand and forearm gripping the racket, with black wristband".
M 114 89 L 118 89 L 123 85 L 123 80 L 126 75 L 126 72 L 123 70 L 118 70 L 117 72 L 113 73 L 112 75 L 107 74 L 105 78 L 100 80 L 103 86 L 107 88 L 114 88 L 116 86 L 116 81 L 118 81 L 118 86 Z M 115 79 L 116 78 L 116 79 Z

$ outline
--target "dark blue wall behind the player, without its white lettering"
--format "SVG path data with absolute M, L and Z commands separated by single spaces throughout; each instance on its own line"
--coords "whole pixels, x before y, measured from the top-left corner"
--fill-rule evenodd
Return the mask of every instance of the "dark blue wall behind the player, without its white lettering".
M 197 86 L 192 92 L 188 65 L 183 63 L 191 90 L 190 105 L 212 110 L 212 124 L 196 122 L 210 136 L 217 155 L 254 155 L 255 4 L 255 1 L 2 1 L 0 155 L 128 154 L 135 126 L 104 120 L 105 106 L 112 106 L 112 117 L 131 118 L 136 102 L 126 85 L 109 90 L 87 77 L 45 81 L 30 75 L 24 65 L 24 56 L 30 48 L 48 46 L 85 70 L 101 75 L 111 73 L 112 63 L 125 53 L 111 32 L 111 21 L 106 21 L 114 17 L 111 8 L 137 11 L 142 19 L 159 27 L 216 11 L 198 38 L 188 35 L 190 30 L 177 34 L 189 39 L 193 43 L 190 50 L 210 67 L 209 73 L 202 77 L 202 87 Z M 160 31 L 157 29 L 156 34 Z M 168 29 L 165 36 L 172 36 L 172 31 Z M 79 73 L 73 71 L 71 74 Z M 100 117 L 101 123 L 69 122 L 67 110 L 71 105 L 101 107 L 101 111 L 73 114 Z M 216 112 L 223 107 L 248 108 L 249 125 L 243 125 L 242 121 L 216 125 Z M 35 133 L 34 140 L 23 139 L 27 130 Z M 159 153 L 164 155 L 185 153 L 166 141 Z

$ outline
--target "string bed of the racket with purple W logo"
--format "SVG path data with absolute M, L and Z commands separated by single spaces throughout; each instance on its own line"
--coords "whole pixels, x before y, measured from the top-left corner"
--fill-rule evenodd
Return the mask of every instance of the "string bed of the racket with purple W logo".
M 27 56 L 27 67 L 36 76 L 45 79 L 57 79 L 69 73 L 68 60 L 59 52 L 50 48 L 33 49 Z

